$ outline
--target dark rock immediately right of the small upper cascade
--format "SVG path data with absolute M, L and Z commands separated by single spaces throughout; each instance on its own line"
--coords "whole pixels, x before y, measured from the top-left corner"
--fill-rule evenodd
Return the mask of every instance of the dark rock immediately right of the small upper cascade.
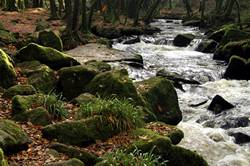
M 204 40 L 198 45 L 195 50 L 204 53 L 214 53 L 217 46 L 218 43 L 214 40 Z

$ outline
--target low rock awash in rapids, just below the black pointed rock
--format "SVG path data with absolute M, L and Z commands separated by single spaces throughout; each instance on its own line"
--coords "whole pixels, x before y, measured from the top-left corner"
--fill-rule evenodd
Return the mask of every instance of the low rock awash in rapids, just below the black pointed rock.
M 221 122 L 220 127 L 223 129 L 247 127 L 250 124 L 248 117 L 229 117 Z

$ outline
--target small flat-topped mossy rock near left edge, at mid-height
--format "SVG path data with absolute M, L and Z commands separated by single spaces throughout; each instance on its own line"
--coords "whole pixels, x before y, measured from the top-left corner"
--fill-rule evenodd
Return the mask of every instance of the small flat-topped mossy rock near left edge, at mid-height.
M 14 85 L 7 89 L 3 97 L 12 98 L 16 95 L 33 95 L 36 93 L 36 89 L 32 85 Z

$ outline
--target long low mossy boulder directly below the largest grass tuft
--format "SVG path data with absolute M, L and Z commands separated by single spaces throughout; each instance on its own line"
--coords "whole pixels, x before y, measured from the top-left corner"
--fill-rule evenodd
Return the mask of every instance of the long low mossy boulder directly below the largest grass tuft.
M 107 139 L 119 131 L 107 119 L 93 116 L 77 121 L 51 124 L 46 126 L 42 133 L 45 138 L 56 139 L 61 143 L 86 146 L 98 139 Z

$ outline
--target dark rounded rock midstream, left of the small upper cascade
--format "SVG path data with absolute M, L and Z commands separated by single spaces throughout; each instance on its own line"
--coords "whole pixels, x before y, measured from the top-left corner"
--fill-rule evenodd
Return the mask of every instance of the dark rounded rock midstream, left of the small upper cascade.
M 192 34 L 179 34 L 174 38 L 174 45 L 178 47 L 186 47 L 195 38 Z

